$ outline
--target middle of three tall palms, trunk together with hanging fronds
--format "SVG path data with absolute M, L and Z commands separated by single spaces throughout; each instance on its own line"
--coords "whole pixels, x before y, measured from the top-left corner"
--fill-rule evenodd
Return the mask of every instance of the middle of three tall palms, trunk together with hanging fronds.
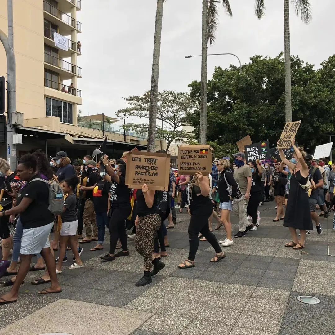
M 207 142 L 207 44 L 215 41 L 218 3 L 232 17 L 229 0 L 202 0 L 201 90 L 200 90 L 200 144 Z

